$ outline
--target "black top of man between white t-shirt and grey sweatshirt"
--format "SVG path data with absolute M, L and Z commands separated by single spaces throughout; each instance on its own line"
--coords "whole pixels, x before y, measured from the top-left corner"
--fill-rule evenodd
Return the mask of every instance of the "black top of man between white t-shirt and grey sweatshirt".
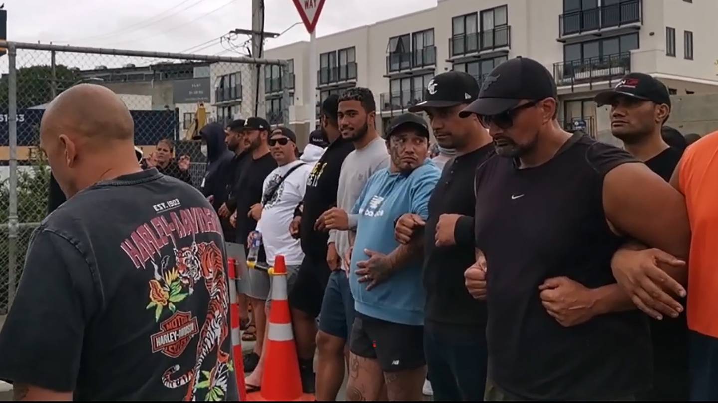
M 314 222 L 328 209 L 337 207 L 339 173 L 344 158 L 347 158 L 353 150 L 354 146 L 350 141 L 337 138 L 327 147 L 307 179 L 299 233 L 302 251 L 314 260 L 322 262 L 326 260 L 327 240 L 329 240 L 328 232 L 314 231 Z

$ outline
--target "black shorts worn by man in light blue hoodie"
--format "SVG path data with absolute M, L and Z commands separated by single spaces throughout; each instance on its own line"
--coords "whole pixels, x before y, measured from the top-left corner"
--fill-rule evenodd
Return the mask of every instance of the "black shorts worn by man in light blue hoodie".
M 417 369 L 426 365 L 424 326 L 382 321 L 356 313 L 349 351 L 376 359 L 384 372 Z

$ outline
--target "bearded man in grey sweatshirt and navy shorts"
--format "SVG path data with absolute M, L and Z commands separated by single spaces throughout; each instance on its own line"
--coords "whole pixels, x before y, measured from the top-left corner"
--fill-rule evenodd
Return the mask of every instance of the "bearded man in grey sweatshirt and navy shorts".
M 317 333 L 317 399 L 335 400 L 344 381 L 344 366 L 348 364 L 345 346 L 354 321 L 354 300 L 349 289 L 348 267 L 343 267 L 341 257 L 349 251 L 348 229 L 356 223 L 349 222 L 350 212 L 364 185 L 374 172 L 387 168 L 389 153 L 384 141 L 376 131 L 376 103 L 368 88 L 353 87 L 339 98 L 337 113 L 342 138 L 354 144 L 342 163 L 337 187 L 337 207 L 327 210 L 315 224 L 329 229 L 327 241 L 327 265 L 332 270 L 320 313 Z M 353 220 L 354 221 L 354 220 Z M 341 230 L 341 231 L 340 231 Z

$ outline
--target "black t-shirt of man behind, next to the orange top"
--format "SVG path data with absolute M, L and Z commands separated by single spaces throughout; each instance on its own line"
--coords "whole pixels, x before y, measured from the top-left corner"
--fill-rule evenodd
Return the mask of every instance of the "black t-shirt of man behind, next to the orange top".
M 657 156 L 645 161 L 651 171 L 666 181 L 671 179 L 681 159 L 681 151 L 666 148 Z M 686 306 L 686 298 L 678 300 Z M 665 317 L 663 321 L 651 321 L 651 342 L 653 344 L 653 389 L 641 398 L 649 400 L 689 399 L 688 376 L 688 323 L 686 312 L 678 318 Z

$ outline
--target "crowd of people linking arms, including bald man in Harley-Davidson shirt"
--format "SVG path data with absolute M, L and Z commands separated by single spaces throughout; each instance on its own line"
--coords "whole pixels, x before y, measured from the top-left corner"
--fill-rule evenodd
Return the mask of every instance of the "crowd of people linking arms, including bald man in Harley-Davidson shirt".
M 435 400 L 718 399 L 718 134 L 668 128 L 643 73 L 595 101 L 623 149 L 564 131 L 525 57 L 481 86 L 436 75 L 383 134 L 351 87 L 303 153 L 263 118 L 202 128 L 200 194 L 171 142 L 138 163 L 116 95 L 72 87 L 41 126 L 68 200 L 34 234 L 0 379 L 33 399 L 236 399 L 233 242 L 261 245 L 236 301 L 248 392 L 282 255 L 317 400 L 347 373 L 350 400 L 420 400 L 427 376 Z

